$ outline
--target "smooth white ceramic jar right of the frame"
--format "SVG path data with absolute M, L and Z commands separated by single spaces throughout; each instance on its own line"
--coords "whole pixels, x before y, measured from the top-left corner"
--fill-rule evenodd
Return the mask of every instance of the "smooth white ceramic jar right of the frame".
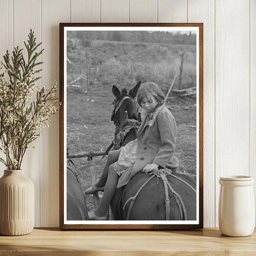
M 226 236 L 250 236 L 255 226 L 254 179 L 220 177 L 218 225 Z

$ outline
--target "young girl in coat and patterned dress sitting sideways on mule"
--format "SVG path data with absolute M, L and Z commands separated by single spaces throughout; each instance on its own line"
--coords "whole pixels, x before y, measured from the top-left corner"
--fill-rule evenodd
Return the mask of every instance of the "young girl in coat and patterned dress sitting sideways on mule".
M 140 86 L 137 97 L 145 116 L 138 129 L 137 140 L 119 150 L 118 161 L 108 167 L 102 201 L 89 214 L 90 220 L 106 220 L 116 188 L 126 185 L 138 172 L 164 169 L 167 163 L 172 168 L 178 166 L 178 159 L 174 156 L 177 126 L 174 116 L 164 105 L 164 95 L 156 84 L 147 82 Z

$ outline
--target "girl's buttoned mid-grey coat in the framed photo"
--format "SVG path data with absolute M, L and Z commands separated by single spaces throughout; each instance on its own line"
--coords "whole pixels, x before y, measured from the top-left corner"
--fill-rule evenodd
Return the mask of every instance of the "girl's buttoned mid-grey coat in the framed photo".
M 118 181 L 118 188 L 126 185 L 130 178 L 140 172 L 147 164 L 155 163 L 165 168 L 169 163 L 178 167 L 178 159 L 174 156 L 176 148 L 177 126 L 172 113 L 166 106 L 159 106 L 153 117 L 144 119 L 138 129 L 137 158 L 134 166 L 129 167 Z

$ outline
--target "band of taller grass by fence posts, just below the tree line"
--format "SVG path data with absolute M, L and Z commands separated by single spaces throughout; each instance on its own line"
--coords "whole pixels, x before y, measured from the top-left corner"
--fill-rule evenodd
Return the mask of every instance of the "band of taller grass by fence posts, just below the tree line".
M 89 55 L 92 86 L 129 87 L 136 81 L 168 85 L 180 66 L 182 53 L 185 53 L 183 87 L 193 87 L 196 85 L 195 46 L 94 40 L 89 47 L 82 47 L 76 43 L 68 48 L 71 62 L 68 63 L 68 82 L 86 74 L 86 55 Z

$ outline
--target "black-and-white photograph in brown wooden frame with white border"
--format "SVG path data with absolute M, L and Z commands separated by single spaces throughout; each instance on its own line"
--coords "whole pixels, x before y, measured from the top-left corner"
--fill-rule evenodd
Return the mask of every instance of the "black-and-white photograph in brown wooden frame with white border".
M 60 228 L 203 228 L 202 23 L 60 23 Z

